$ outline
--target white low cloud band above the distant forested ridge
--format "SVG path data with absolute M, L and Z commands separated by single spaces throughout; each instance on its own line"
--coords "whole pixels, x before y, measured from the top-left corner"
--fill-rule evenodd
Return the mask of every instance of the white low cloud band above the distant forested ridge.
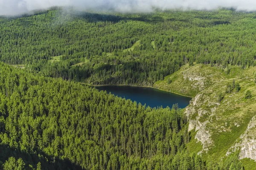
M 0 15 L 19 15 L 52 6 L 72 6 L 79 10 L 151 12 L 159 9 L 214 10 L 235 8 L 256 11 L 255 0 L 0 0 Z

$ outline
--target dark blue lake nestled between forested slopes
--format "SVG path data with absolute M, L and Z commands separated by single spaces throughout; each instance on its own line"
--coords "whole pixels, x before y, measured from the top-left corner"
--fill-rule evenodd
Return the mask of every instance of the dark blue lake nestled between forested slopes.
M 163 106 L 166 108 L 169 106 L 172 108 L 173 104 L 178 103 L 179 108 L 185 108 L 189 105 L 189 101 L 192 99 L 186 96 L 180 96 L 177 94 L 169 93 L 166 91 L 160 91 L 154 88 L 142 88 L 131 86 L 95 86 L 99 91 L 107 91 L 125 99 L 131 99 L 142 105 L 146 104 L 151 108 Z

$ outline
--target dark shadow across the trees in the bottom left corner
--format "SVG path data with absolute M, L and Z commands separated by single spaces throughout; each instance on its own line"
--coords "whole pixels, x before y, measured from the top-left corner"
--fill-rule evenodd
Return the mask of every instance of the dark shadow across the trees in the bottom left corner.
M 14 150 L 9 147 L 9 145 L 1 144 L 0 145 L 0 160 L 5 163 L 9 157 L 15 157 L 16 161 L 19 158 L 22 158 L 26 164 L 25 169 L 29 169 L 29 164 L 33 168 L 37 168 L 38 162 L 41 162 L 42 170 L 82 170 L 82 167 L 72 163 L 68 159 L 59 159 L 54 158 L 54 156 L 47 156 L 44 153 L 40 153 L 41 156 L 35 153 L 26 153 L 20 150 Z M 47 161 L 48 160 L 48 161 Z

